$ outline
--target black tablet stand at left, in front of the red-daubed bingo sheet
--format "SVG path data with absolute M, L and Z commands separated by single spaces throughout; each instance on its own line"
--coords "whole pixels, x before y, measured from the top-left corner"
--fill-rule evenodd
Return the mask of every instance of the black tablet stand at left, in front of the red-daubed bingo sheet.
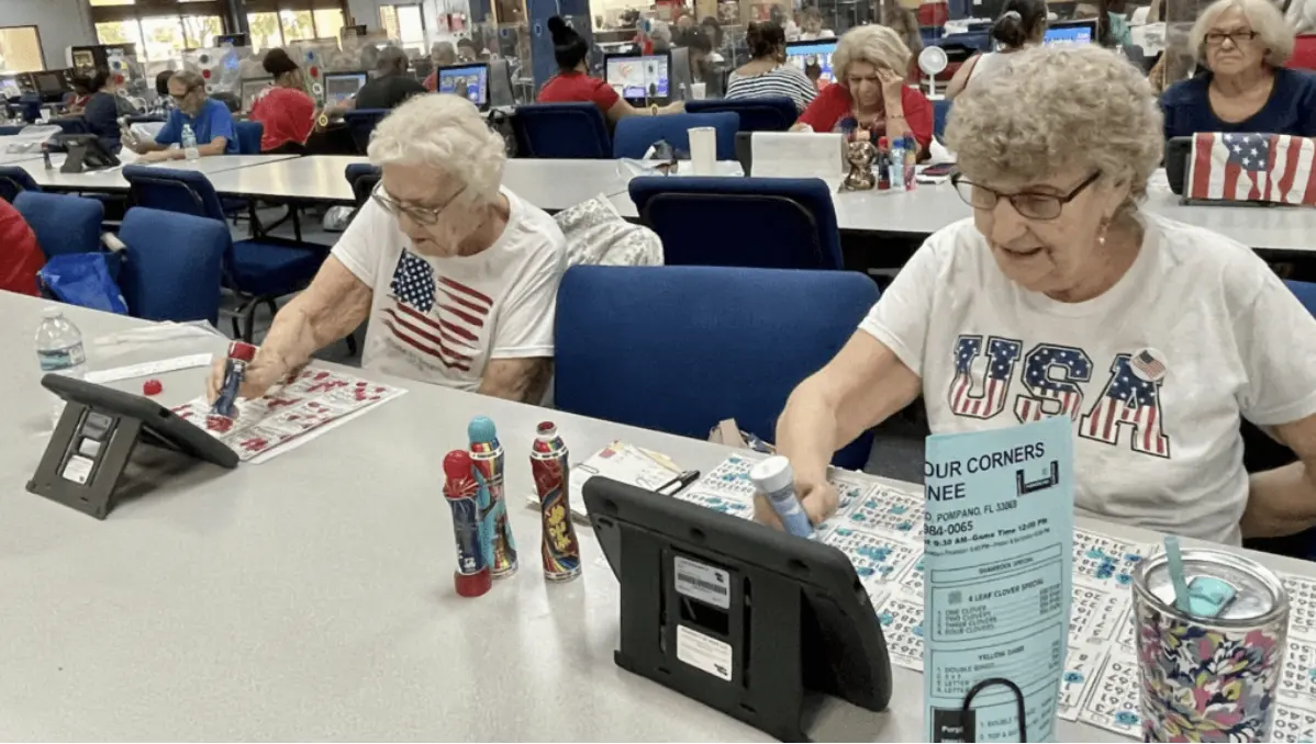
M 237 467 L 237 453 L 222 442 L 143 397 L 61 375 L 41 384 L 66 405 L 28 481 L 32 493 L 104 519 L 138 442 Z

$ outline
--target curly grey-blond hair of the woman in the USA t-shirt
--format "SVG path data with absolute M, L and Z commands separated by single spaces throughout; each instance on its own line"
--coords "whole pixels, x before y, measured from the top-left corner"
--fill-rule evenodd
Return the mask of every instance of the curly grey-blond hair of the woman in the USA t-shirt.
M 1076 164 L 1134 200 L 1165 149 L 1141 70 L 1096 45 L 1034 47 L 955 97 L 946 142 L 969 180 L 1042 180 Z

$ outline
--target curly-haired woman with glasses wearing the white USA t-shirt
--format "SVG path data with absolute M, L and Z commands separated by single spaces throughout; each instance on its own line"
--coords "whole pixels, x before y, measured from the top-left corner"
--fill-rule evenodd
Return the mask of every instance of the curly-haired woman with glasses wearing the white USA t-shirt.
M 778 422 L 809 517 L 837 507 L 832 453 L 923 396 L 936 434 L 1073 419 L 1080 514 L 1228 544 L 1316 524 L 1316 319 L 1246 246 L 1138 208 L 1163 149 L 1142 74 L 1021 51 L 955 99 L 946 139 L 973 218 Z M 1249 476 L 1242 419 L 1300 461 Z

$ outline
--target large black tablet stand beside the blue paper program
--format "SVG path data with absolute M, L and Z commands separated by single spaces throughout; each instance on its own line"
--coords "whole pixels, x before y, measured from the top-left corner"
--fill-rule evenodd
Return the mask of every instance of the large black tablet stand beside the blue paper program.
M 783 741 L 808 740 L 817 693 L 886 709 L 882 630 L 840 551 L 600 476 L 584 501 L 621 582 L 619 666 Z

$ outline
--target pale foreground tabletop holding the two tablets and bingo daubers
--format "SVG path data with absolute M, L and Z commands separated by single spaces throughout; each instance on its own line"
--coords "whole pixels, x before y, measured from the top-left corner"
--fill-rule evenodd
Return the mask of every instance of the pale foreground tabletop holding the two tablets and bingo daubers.
M 42 306 L 0 293 L 0 343 L 30 347 Z M 92 339 L 143 323 L 67 315 L 92 369 L 224 348 L 171 342 L 107 359 Z M 499 426 L 516 505 L 532 488 L 529 443 L 545 418 L 575 452 L 622 439 L 708 472 L 725 447 L 371 375 L 409 392 L 266 464 L 197 464 L 99 522 L 24 490 L 50 421 L 38 376 L 22 354 L 0 367 L 5 739 L 767 740 L 613 664 L 617 582 L 588 528 L 583 577 L 550 585 L 536 556 L 538 515 L 511 509 L 519 573 L 476 599 L 453 592 L 441 461 L 465 447 L 472 415 Z M 201 369 L 159 377 L 164 405 L 201 390 Z M 812 736 L 924 740 L 923 680 L 901 668 L 892 678 L 888 711 L 828 701 Z M 1115 737 L 1063 722 L 1058 733 Z

